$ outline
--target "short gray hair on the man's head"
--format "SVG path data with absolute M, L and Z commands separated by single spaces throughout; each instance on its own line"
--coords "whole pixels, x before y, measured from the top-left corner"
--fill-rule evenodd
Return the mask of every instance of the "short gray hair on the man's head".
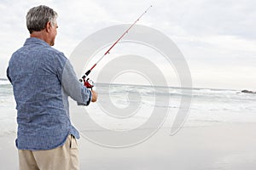
M 29 9 L 26 14 L 26 27 L 29 33 L 33 31 L 44 30 L 47 22 L 51 26 L 55 26 L 58 14 L 52 9 L 44 5 Z

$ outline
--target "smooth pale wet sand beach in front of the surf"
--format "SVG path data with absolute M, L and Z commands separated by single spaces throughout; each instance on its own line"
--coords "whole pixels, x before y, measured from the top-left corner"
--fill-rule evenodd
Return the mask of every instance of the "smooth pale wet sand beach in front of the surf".
M 174 136 L 161 128 L 153 137 L 132 147 L 113 149 L 79 139 L 81 169 L 255 169 L 256 124 L 216 123 L 183 127 Z M 104 132 L 102 135 L 108 135 Z M 15 134 L 1 137 L 1 169 L 18 169 Z

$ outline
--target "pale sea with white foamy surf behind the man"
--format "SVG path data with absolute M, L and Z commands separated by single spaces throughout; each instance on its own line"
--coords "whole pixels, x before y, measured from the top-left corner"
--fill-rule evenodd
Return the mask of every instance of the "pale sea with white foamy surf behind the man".
M 94 89 L 98 93 L 98 102 L 89 105 L 86 111 L 80 114 L 90 116 L 99 126 L 110 130 L 138 128 L 147 122 L 152 114 L 158 114 L 155 113 L 158 111 L 154 110 L 155 108 L 166 111 L 161 126 L 167 128 L 172 127 L 181 109 L 187 109 L 186 116 L 183 117 L 183 127 L 212 126 L 223 122 L 256 122 L 256 94 L 245 94 L 240 90 L 107 83 L 96 83 Z M 189 91 L 189 96 L 184 93 L 186 91 Z M 182 108 L 183 98 L 191 99 L 188 108 Z M 72 111 L 71 108 L 71 114 Z M 12 86 L 8 80 L 1 79 L 0 136 L 16 133 L 16 129 Z

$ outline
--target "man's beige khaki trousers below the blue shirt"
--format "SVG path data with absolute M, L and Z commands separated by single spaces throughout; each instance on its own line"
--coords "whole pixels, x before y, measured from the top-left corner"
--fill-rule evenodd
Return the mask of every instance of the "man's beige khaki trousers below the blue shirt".
M 65 144 L 53 150 L 19 150 L 20 170 L 79 170 L 79 149 L 69 135 Z

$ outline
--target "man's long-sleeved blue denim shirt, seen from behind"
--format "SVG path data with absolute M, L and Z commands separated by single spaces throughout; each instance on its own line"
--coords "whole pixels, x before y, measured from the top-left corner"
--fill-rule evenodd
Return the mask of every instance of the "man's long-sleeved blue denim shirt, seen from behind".
M 41 39 L 27 38 L 9 60 L 20 150 L 51 150 L 79 132 L 70 122 L 68 96 L 89 105 L 91 92 L 80 83 L 68 59 Z

